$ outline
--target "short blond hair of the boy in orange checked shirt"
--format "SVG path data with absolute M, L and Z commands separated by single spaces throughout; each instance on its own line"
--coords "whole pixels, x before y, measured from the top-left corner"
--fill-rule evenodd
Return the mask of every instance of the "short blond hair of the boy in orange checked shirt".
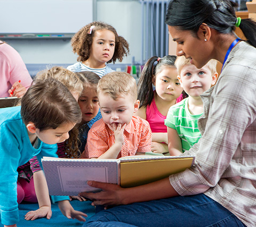
M 127 72 L 109 72 L 99 80 L 98 94 L 109 95 L 116 100 L 124 95 L 131 95 L 134 102 L 137 100 L 137 85 L 135 79 Z

